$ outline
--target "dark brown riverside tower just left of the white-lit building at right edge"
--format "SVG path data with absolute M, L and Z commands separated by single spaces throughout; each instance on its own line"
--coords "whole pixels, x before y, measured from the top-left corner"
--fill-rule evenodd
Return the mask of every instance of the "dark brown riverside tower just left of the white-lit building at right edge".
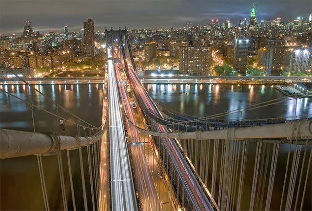
M 284 39 L 271 38 L 266 40 L 264 70 L 270 76 L 279 76 L 284 55 Z

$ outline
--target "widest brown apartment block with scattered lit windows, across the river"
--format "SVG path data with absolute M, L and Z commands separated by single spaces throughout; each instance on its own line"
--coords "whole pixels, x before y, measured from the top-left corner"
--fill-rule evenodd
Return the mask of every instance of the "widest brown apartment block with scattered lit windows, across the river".
M 208 75 L 211 62 L 211 47 L 179 47 L 179 72 L 182 74 Z

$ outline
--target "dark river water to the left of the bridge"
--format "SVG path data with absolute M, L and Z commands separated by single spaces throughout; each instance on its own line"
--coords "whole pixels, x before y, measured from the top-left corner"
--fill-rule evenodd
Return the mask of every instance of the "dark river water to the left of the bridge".
M 39 105 L 52 113 L 56 113 L 56 106 L 37 92 L 30 90 L 24 85 L 3 85 L 2 89 Z M 60 105 L 73 114 L 86 120 L 90 124 L 99 126 L 102 117 L 103 84 L 80 84 L 80 85 L 39 85 L 37 87 L 48 97 L 57 101 Z M 29 131 L 32 129 L 30 108 L 19 99 L 0 92 L 0 127 L 13 130 Z M 70 114 L 58 109 L 58 114 L 78 122 Z M 37 132 L 61 133 L 57 117 L 34 109 L 35 129 Z M 77 127 L 70 122 L 65 122 L 66 135 L 77 134 Z M 85 148 L 85 147 L 84 147 Z M 82 148 L 84 175 L 89 181 L 88 161 L 86 149 Z M 66 151 L 61 153 L 62 165 L 68 207 L 73 210 L 70 197 L 69 171 Z M 80 163 L 78 150 L 70 151 L 71 167 L 73 173 L 74 192 L 77 210 L 83 210 L 82 185 L 80 176 Z M 57 155 L 44 156 L 43 169 L 49 196 L 50 210 L 63 210 L 58 158 Z M 1 201 L 0 210 L 44 210 L 42 190 L 40 184 L 37 157 L 34 155 L 5 159 L 0 161 L 1 169 Z M 86 183 L 87 194 L 91 194 L 90 184 Z M 88 197 L 88 208 L 92 210 L 91 197 Z

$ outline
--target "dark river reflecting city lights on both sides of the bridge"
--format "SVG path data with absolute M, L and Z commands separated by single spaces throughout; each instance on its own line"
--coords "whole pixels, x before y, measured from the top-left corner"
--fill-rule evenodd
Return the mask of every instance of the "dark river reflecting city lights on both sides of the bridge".
M 176 112 L 195 115 L 207 116 L 218 114 L 224 111 L 232 111 L 240 109 L 255 103 L 264 102 L 267 100 L 284 97 L 279 91 L 269 85 L 208 85 L 208 84 L 146 84 L 146 89 L 156 102 L 161 103 L 165 108 Z M 35 105 L 40 105 L 41 108 L 47 109 L 53 113 L 56 112 L 56 107 L 50 101 L 46 100 L 38 93 L 31 91 L 27 86 L 23 85 L 2 85 L 1 87 L 10 93 L 13 93 L 20 98 L 30 101 Z M 70 110 L 80 118 L 94 124 L 96 126 L 101 123 L 102 116 L 102 97 L 103 84 L 80 84 L 80 85 L 39 85 L 38 89 L 53 100 L 56 100 L 60 105 Z M 286 98 L 291 99 L 291 98 Z M 0 127 L 14 130 L 32 131 L 31 112 L 30 108 L 20 100 L 0 93 Z M 255 111 L 243 112 L 225 116 L 228 119 L 240 118 L 269 118 L 269 117 L 293 117 L 295 112 L 295 100 L 289 100 L 280 104 L 271 105 L 266 108 L 259 108 Z M 62 117 L 68 117 L 75 121 L 71 115 L 64 113 L 58 109 L 58 114 Z M 312 116 L 312 98 L 297 99 L 296 115 Z M 57 118 L 46 114 L 37 109 L 34 110 L 35 128 L 38 132 L 58 132 L 59 122 Z M 76 126 L 66 123 L 66 135 L 75 135 L 77 132 Z M 251 148 L 253 146 L 250 146 Z M 271 149 L 272 150 L 272 149 Z M 288 148 L 280 147 L 279 158 L 277 164 L 277 189 L 274 186 L 273 199 L 278 200 L 278 190 L 282 186 L 283 173 L 286 165 Z M 84 159 L 86 153 L 83 152 Z M 211 152 L 212 154 L 212 152 Z M 77 209 L 83 209 L 83 199 L 78 198 L 78 192 L 82 192 L 80 168 L 78 160 L 78 151 L 71 151 L 72 171 L 74 174 L 74 186 Z M 254 154 L 249 154 L 251 166 L 254 160 Z M 67 195 L 69 200 L 69 177 L 66 159 L 66 153 L 62 153 L 63 168 L 65 169 L 65 184 L 67 184 Z M 1 207 L 0 210 L 44 210 L 43 197 L 39 178 L 39 169 L 36 156 L 26 156 L 20 158 L 5 159 L 0 161 L 1 170 Z M 271 162 L 270 162 L 271 163 Z M 59 170 L 57 165 L 57 156 L 43 157 L 43 168 L 46 176 L 47 189 L 50 200 L 50 210 L 63 210 L 61 189 L 59 185 Z M 87 161 L 84 160 L 85 168 Z M 253 174 L 253 167 L 246 170 L 250 175 Z M 85 173 L 88 180 L 88 173 Z M 281 182 L 279 182 L 279 179 Z M 248 181 L 249 180 L 249 181 Z M 252 178 L 246 178 L 251 186 Z M 308 185 L 308 188 L 311 187 Z M 87 185 L 87 190 L 90 190 L 90 185 Z M 90 192 L 90 191 L 89 191 Z M 248 191 L 247 191 L 248 192 Z M 91 210 L 91 197 L 88 198 L 88 207 Z M 306 192 L 305 207 L 311 208 L 311 188 Z M 246 198 L 246 208 L 248 204 Z M 279 203 L 279 202 L 278 202 Z M 71 204 L 71 201 L 68 203 Z M 277 206 L 276 206 L 277 207 Z M 249 208 L 249 207 L 248 207 Z M 247 209 L 248 209 L 247 208 Z M 275 209 L 275 207 L 273 207 Z M 278 207 L 279 209 L 279 207 Z M 311 210 L 307 208 L 306 210 Z

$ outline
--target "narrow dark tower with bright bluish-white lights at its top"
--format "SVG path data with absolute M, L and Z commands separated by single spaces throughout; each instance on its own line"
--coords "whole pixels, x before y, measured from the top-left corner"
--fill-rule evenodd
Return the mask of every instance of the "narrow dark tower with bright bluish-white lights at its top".
M 241 76 L 246 76 L 248 45 L 249 39 L 246 37 L 235 39 L 233 66 L 234 70 Z

